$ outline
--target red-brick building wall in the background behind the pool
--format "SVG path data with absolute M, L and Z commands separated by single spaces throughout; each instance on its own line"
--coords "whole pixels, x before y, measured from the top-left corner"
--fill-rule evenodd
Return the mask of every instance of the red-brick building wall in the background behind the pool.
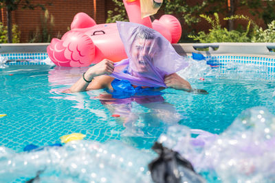
M 122 0 L 121 0 L 122 1 Z M 190 4 L 195 2 L 201 2 L 202 0 L 193 0 Z M 33 4 L 41 3 L 45 4 L 47 0 L 34 0 Z M 12 23 L 19 26 L 21 31 L 21 42 L 47 42 L 45 38 L 41 41 L 34 40 L 37 34 L 40 36 L 47 36 L 42 34 L 49 34 L 51 38 L 61 38 L 65 32 L 68 31 L 74 16 L 78 12 L 85 12 L 91 16 L 96 23 L 105 23 L 107 19 L 107 11 L 113 10 L 114 3 L 112 0 L 57 0 L 52 1 L 52 5 L 46 5 L 48 10 L 49 19 L 47 20 L 47 26 L 43 23 L 45 19 L 45 12 L 41 8 L 37 7 L 34 10 L 18 10 L 12 11 Z M 203 13 L 203 12 L 201 12 Z M 238 14 L 248 14 L 248 11 L 242 10 L 237 12 Z M 50 19 L 53 17 L 54 25 L 50 25 Z M 7 25 L 7 16 L 5 8 L 1 9 L 0 21 L 3 25 Z M 241 22 L 244 27 L 247 25 L 247 21 Z M 222 23 L 222 25 L 225 25 Z M 259 25 L 262 25 L 260 22 Z M 225 25 L 226 26 L 226 25 Z M 193 26 L 196 31 L 208 30 L 210 25 L 206 21 L 201 21 L 197 25 Z M 183 27 L 183 31 L 185 27 Z M 44 31 L 44 32 L 43 32 Z

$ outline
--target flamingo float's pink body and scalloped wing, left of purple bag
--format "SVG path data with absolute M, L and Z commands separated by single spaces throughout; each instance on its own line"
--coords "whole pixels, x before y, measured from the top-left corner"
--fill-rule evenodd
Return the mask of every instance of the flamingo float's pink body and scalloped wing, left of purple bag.
M 52 39 L 47 54 L 58 66 L 89 66 L 107 58 L 118 62 L 126 53 L 116 23 L 96 25 L 87 14 L 74 17 L 71 30 L 61 40 Z

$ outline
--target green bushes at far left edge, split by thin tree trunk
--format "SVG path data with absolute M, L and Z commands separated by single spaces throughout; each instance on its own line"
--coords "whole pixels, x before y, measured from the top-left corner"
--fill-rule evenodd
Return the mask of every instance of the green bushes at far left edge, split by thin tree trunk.
M 12 43 L 19 43 L 21 32 L 19 31 L 18 25 L 12 25 L 12 34 L 14 35 L 12 38 Z M 4 26 L 3 23 L 0 22 L 0 43 L 8 42 L 8 27 Z

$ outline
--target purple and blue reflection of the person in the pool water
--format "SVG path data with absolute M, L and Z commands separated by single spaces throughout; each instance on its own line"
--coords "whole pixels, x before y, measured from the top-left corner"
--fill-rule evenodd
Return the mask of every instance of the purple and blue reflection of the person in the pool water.
M 135 147 L 150 148 L 169 125 L 181 119 L 175 107 L 166 102 L 162 95 L 115 99 L 111 94 L 100 94 L 96 98 L 111 114 L 119 115 L 116 121 L 125 127 L 120 137 Z

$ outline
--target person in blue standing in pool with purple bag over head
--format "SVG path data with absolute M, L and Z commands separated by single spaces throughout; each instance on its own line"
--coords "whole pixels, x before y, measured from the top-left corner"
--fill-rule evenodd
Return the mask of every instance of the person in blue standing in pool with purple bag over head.
M 105 59 L 91 66 L 69 88 L 70 92 L 107 88 L 109 93 L 133 96 L 144 90 L 167 87 L 194 91 L 189 82 L 176 73 L 188 66 L 188 59 L 179 56 L 166 38 L 137 23 L 118 22 L 117 25 L 128 58 L 116 63 Z

